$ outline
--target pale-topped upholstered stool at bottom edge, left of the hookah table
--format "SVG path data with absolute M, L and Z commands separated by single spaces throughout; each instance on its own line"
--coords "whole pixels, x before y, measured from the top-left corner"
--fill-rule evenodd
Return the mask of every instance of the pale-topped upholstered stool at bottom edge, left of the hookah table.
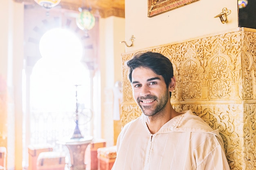
M 41 152 L 36 161 L 37 170 L 64 170 L 66 161 L 62 152 Z

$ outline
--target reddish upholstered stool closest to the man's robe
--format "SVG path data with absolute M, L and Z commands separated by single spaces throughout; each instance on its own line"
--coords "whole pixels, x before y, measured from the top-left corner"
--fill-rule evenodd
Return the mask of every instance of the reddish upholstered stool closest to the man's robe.
M 98 170 L 111 170 L 116 157 L 117 157 L 117 147 L 110 146 L 99 148 L 98 152 Z

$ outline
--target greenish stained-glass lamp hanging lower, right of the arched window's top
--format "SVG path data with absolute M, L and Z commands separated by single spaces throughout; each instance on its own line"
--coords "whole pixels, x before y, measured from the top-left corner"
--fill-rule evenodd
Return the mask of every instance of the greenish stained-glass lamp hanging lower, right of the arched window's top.
M 92 29 L 95 25 L 95 17 L 90 13 L 90 10 L 79 8 L 76 24 L 88 36 L 88 30 Z

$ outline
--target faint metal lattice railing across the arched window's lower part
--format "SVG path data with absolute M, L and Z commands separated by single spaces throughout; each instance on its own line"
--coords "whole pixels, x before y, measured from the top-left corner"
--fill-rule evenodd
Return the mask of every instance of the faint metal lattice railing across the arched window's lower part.
M 75 129 L 75 112 L 32 112 L 30 116 L 31 144 L 52 144 L 60 139 L 69 139 Z M 91 119 L 88 115 L 79 116 L 79 129 L 83 136 L 91 135 Z

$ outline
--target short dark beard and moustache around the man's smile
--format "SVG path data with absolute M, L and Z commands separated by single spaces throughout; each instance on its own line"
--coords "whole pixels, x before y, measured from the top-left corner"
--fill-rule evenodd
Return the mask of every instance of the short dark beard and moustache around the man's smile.
M 169 97 L 169 91 L 166 90 L 164 95 L 162 95 L 162 97 L 160 97 L 160 98 L 158 98 L 155 95 L 147 95 L 145 97 L 138 97 L 137 104 L 141 108 L 141 111 L 144 113 L 144 115 L 153 116 L 165 108 L 165 106 L 168 102 L 168 97 Z M 140 101 L 143 99 L 153 99 L 157 102 L 157 104 L 150 105 L 150 106 L 141 106 Z

